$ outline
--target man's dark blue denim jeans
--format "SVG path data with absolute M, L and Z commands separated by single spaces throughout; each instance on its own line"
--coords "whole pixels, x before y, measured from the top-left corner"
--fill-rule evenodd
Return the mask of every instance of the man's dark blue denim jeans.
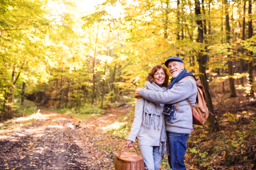
M 186 142 L 189 134 L 168 132 L 170 156 L 168 162 L 172 170 L 186 170 L 184 156 L 186 154 Z

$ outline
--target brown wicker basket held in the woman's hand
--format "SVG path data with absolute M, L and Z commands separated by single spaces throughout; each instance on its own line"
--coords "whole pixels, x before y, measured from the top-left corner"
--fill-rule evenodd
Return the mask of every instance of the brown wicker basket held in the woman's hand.
M 124 146 L 125 147 L 125 146 Z M 143 156 L 139 155 L 138 150 L 135 146 L 133 146 L 136 150 L 132 151 L 122 151 L 124 149 L 122 147 L 120 152 L 116 152 L 115 154 L 115 169 L 116 170 L 145 170 Z

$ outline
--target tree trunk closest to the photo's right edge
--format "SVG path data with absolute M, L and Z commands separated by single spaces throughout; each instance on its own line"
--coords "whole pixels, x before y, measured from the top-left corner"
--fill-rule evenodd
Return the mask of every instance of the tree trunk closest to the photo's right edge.
M 249 6 L 248 6 L 248 14 L 252 14 L 252 0 L 249 0 Z M 248 21 L 248 38 L 253 37 L 253 23 L 252 20 L 249 19 Z M 251 51 L 250 56 L 253 55 L 253 52 Z M 248 62 L 248 73 L 249 73 L 249 83 L 251 86 L 250 89 L 250 96 L 254 97 L 254 89 L 253 89 L 253 58 L 249 60 Z

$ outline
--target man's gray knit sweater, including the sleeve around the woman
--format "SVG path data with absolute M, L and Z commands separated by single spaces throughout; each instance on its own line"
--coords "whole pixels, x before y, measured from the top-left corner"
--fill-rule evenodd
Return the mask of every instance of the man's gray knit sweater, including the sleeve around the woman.
M 173 88 L 166 92 L 140 90 L 140 96 L 156 103 L 172 104 L 179 102 L 179 109 L 175 109 L 174 119 L 166 121 L 166 131 L 174 133 L 190 134 L 192 130 L 192 111 L 185 99 L 188 99 L 191 105 L 195 105 L 197 96 L 197 85 L 194 79 L 188 78 L 177 82 Z

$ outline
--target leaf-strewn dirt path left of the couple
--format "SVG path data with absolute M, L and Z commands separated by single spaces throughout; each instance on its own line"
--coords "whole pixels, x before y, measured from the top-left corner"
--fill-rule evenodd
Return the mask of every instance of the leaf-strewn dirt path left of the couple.
M 128 109 L 111 110 L 78 122 L 69 115 L 41 109 L 0 130 L 0 170 L 111 170 L 113 153 L 124 139 L 108 130 L 119 126 Z

